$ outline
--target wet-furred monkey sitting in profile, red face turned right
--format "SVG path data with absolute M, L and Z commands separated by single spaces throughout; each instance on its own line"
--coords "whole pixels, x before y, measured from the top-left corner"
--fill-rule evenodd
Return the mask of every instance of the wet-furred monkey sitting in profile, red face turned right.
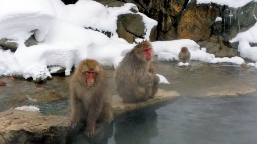
M 154 74 L 152 46 L 149 41 L 137 44 L 115 70 L 115 89 L 123 102 L 140 102 L 153 98 L 159 77 Z

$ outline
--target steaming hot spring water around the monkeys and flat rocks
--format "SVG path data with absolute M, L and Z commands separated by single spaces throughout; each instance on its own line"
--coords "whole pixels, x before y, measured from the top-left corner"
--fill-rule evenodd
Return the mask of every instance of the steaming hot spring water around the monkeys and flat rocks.
M 164 90 L 178 91 L 182 96 L 157 110 L 115 121 L 108 137 L 100 143 L 257 143 L 257 92 L 239 96 L 204 97 L 206 90 L 218 87 L 244 86 L 257 88 L 257 70 L 238 65 L 204 65 L 192 61 L 192 67 L 181 68 L 175 62 L 154 61 L 157 74 L 171 83 L 160 84 Z M 104 67 L 113 84 L 113 67 Z M 53 76 L 42 85 L 16 78 L 0 87 L 0 111 L 23 105 L 40 108 L 43 115 L 70 115 L 69 77 Z M 54 91 L 68 100 L 21 102 L 22 95 L 32 97 Z M 116 94 L 111 85 L 112 94 Z M 80 142 L 83 143 L 83 139 Z

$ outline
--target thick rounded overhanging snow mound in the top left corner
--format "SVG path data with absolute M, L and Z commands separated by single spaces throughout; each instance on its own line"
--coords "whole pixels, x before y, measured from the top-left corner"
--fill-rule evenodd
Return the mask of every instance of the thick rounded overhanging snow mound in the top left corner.
M 50 0 L 1 0 L 0 5 L 0 39 L 26 39 L 31 30 L 38 29 L 35 38 L 42 41 L 56 17 Z

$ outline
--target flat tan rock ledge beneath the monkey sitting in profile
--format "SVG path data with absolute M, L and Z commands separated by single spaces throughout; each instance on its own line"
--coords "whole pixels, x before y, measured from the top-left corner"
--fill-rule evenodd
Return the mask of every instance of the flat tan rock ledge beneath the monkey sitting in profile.
M 162 101 L 167 101 L 173 98 L 180 96 L 180 94 L 176 91 L 164 91 L 162 89 L 158 89 L 157 94 L 153 99 L 149 99 L 146 102 L 137 102 L 137 103 L 122 103 L 122 98 L 118 95 L 113 96 L 113 114 L 120 115 L 125 112 L 142 109 L 145 107 L 149 107 L 151 105 L 155 105 Z

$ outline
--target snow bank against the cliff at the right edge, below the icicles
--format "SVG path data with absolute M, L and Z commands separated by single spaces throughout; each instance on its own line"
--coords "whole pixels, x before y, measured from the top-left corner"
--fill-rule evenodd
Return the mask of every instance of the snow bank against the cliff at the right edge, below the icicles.
M 249 58 L 257 61 L 257 47 L 251 47 L 251 43 L 257 42 L 257 23 L 247 31 L 238 33 L 235 38 L 230 40 L 230 43 L 239 42 L 238 52 L 241 57 Z

